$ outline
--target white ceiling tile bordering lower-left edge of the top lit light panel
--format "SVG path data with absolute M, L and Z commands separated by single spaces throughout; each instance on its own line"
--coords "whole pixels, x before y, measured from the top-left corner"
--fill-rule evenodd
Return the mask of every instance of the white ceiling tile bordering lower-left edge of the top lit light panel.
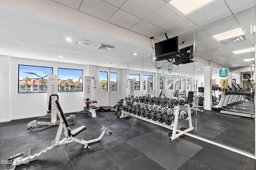
M 181 17 L 182 15 L 180 13 L 166 4 L 144 20 L 161 28 Z

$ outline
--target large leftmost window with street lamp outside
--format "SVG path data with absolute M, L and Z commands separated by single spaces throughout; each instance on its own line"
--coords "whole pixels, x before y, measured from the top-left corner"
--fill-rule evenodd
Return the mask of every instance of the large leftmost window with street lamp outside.
M 18 93 L 47 92 L 47 75 L 52 67 L 18 65 Z

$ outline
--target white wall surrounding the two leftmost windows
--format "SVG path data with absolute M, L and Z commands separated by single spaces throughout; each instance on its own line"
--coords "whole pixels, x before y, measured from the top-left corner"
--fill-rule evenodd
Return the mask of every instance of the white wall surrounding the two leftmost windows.
M 5 106 L 0 110 L 0 122 L 42 116 L 48 109 L 47 93 L 18 94 L 18 64 L 53 67 L 53 74 L 58 74 L 58 68 L 81 69 L 86 74 L 88 67 L 6 56 L 0 56 L 0 59 L 1 79 L 4 80 L 1 84 L 1 106 Z M 64 113 L 83 110 L 83 92 L 61 92 L 58 95 Z

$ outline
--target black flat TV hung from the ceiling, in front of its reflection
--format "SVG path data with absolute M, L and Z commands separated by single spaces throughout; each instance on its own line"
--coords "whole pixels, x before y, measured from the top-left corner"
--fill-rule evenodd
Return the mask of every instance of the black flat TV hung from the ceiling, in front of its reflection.
M 155 43 L 156 61 L 174 58 L 179 51 L 178 37 Z

